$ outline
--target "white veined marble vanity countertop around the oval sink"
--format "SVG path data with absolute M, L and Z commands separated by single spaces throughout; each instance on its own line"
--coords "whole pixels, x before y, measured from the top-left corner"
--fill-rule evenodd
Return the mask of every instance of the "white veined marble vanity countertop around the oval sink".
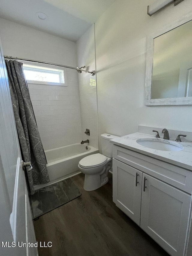
M 150 149 L 145 146 L 142 146 L 136 142 L 138 139 L 150 138 L 152 140 L 161 140 L 161 141 L 172 141 L 175 140 L 164 140 L 163 138 L 155 138 L 154 135 L 144 134 L 136 132 L 133 134 L 125 135 L 113 140 L 110 140 L 111 143 L 121 146 L 126 149 L 133 150 L 135 152 L 157 158 L 158 160 L 165 161 L 170 164 L 175 164 L 179 167 L 188 169 L 192 171 L 192 142 L 177 142 L 183 147 L 181 151 L 164 151 L 157 149 Z M 181 137 L 182 139 L 182 137 Z

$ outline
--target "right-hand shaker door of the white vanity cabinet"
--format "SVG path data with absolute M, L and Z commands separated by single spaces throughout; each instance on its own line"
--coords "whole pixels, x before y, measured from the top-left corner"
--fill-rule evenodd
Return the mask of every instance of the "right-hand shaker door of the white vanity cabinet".
M 143 173 L 140 227 L 169 254 L 181 256 L 191 196 Z

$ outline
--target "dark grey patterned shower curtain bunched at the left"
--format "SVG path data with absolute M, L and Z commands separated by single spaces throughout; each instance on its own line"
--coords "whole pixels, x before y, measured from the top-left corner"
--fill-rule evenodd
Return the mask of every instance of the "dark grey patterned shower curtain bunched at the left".
M 34 185 L 49 182 L 46 168 L 47 161 L 23 73 L 22 63 L 16 60 L 5 60 L 5 63 L 22 158 L 24 162 L 31 162 L 33 167 L 32 170 L 29 170 L 30 167 L 27 166 L 26 173 L 30 192 L 34 194 Z

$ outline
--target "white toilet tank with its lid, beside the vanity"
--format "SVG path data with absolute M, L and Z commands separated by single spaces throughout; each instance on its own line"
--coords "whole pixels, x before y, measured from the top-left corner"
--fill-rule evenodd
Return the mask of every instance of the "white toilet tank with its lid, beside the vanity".
M 108 133 L 101 134 L 101 149 L 102 149 L 102 154 L 106 155 L 108 157 L 112 158 L 112 147 L 113 144 L 110 143 L 110 140 L 119 138 L 118 136 L 111 135 Z

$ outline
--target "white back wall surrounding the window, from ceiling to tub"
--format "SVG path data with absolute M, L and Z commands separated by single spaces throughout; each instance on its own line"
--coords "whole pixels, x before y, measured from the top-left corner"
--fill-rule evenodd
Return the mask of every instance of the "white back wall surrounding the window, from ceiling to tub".
M 0 18 L 4 55 L 76 67 L 76 44 Z M 81 141 L 77 71 L 67 70 L 68 86 L 29 84 L 44 149 Z

